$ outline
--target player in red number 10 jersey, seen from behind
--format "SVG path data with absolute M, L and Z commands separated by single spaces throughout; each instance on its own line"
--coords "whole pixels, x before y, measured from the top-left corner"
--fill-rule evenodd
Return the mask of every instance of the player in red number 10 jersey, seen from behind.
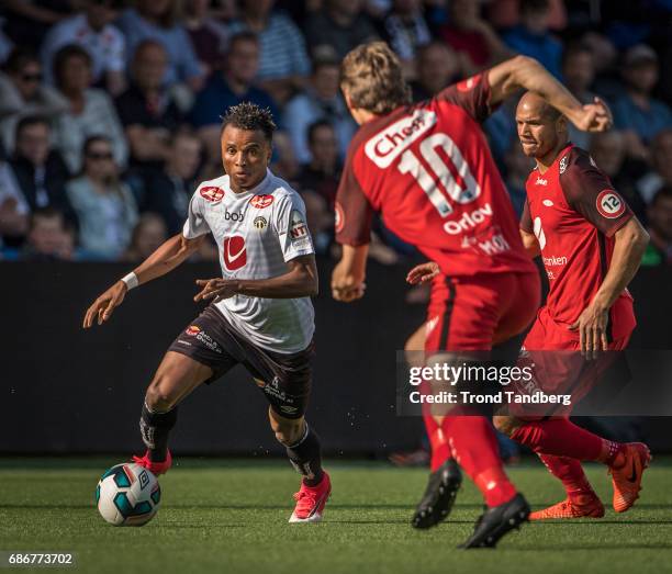
M 440 267 L 428 353 L 457 360 L 461 351 L 490 351 L 524 331 L 539 301 L 539 279 L 480 123 L 519 88 L 538 92 L 584 130 L 605 128 L 604 106 L 582 106 L 523 56 L 411 104 L 399 59 L 380 42 L 347 55 L 341 88 L 360 128 L 337 193 L 343 257 L 332 277 L 334 296 L 362 296 L 371 217 L 380 211 L 392 232 Z M 529 507 L 503 470 L 490 421 L 456 414 L 440 417 L 443 432 L 434 435 L 449 440 L 488 505 L 463 547 L 493 547 L 527 519 Z

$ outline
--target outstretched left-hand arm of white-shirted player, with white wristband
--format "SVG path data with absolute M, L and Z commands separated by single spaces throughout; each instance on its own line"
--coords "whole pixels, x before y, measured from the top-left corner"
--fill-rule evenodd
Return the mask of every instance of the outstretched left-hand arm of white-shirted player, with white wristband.
M 204 236 L 187 239 L 181 234 L 168 239 L 137 268 L 124 279 L 120 279 L 93 302 L 85 315 L 82 327 L 88 329 L 96 320 L 102 325 L 112 316 L 114 308 L 122 304 L 130 289 L 172 271 L 198 250 L 203 239 Z

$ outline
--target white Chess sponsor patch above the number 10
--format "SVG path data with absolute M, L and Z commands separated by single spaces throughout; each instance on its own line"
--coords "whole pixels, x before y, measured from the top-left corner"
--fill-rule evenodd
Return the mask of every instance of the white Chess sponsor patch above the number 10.
M 413 115 L 407 115 L 376 134 L 367 142 L 365 153 L 373 164 L 384 169 L 434 124 L 434 112 L 416 110 Z

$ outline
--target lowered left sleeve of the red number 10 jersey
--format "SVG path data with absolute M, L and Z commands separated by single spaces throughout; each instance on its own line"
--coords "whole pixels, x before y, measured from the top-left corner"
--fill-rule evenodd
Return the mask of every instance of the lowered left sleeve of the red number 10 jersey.
M 348 153 L 336 192 L 336 241 L 352 247 L 369 244 L 372 218 L 373 207 L 355 175 L 352 153 Z

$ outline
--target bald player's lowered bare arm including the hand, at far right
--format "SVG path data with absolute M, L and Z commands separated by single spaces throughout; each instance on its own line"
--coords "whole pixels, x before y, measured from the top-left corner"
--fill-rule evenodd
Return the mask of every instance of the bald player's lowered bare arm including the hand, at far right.
M 591 304 L 570 327 L 579 331 L 581 352 L 589 359 L 595 358 L 600 350 L 608 350 L 606 327 L 609 308 L 637 273 L 648 244 L 649 234 L 637 217 L 628 220 L 614 234 L 614 252 L 607 274 Z

